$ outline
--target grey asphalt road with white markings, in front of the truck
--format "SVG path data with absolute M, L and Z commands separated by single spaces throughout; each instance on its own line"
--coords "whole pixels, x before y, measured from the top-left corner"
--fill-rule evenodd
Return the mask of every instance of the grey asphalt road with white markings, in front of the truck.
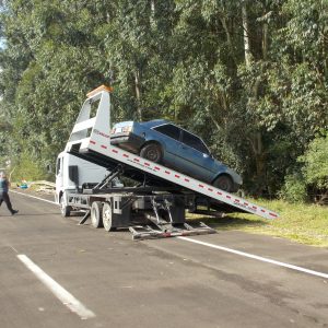
M 0 208 L 1 328 L 328 327 L 327 248 L 239 232 L 133 242 L 11 199 L 17 215 Z

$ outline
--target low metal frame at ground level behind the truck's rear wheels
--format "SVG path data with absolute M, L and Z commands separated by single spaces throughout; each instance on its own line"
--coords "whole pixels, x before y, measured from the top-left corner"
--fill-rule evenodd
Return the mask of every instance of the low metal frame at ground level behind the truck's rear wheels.
M 133 241 L 143 241 L 143 239 L 157 239 L 157 238 L 168 238 L 168 237 L 178 237 L 178 236 L 195 236 L 195 235 L 207 235 L 214 234 L 216 231 L 200 222 L 199 226 L 194 227 L 188 223 L 184 223 L 183 226 L 165 226 L 163 230 L 161 226 L 152 227 L 150 225 L 141 226 L 129 226 L 129 231 L 132 233 Z

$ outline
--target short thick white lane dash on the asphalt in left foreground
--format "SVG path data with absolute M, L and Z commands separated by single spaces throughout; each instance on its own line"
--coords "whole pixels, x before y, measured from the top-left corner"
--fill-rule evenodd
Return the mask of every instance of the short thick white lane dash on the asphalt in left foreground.
M 89 319 L 95 317 L 95 314 L 86 308 L 72 294 L 57 283 L 51 277 L 36 266 L 26 255 L 20 254 L 17 258 L 55 294 L 72 312 L 78 314 L 81 319 Z

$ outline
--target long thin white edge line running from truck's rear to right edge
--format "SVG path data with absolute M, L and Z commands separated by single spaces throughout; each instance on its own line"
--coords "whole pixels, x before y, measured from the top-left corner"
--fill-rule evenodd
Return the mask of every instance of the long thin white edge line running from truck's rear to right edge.
M 265 258 L 265 257 L 261 257 L 261 256 L 253 255 L 253 254 L 249 254 L 249 253 L 244 253 L 244 251 L 227 248 L 227 247 L 224 247 L 224 246 L 219 246 L 219 245 L 214 245 L 214 244 L 210 244 L 210 243 L 204 243 L 204 242 L 201 242 L 201 241 L 191 239 L 191 238 L 188 238 L 188 237 L 177 237 L 177 238 L 179 238 L 181 241 L 199 244 L 199 245 L 202 245 L 202 246 L 220 249 L 220 250 L 223 250 L 223 251 L 236 254 L 236 255 L 239 255 L 239 256 L 253 258 L 253 259 L 256 259 L 256 260 L 259 260 L 259 261 L 262 261 L 262 262 L 268 262 L 268 263 L 271 263 L 271 265 L 274 265 L 274 266 L 284 267 L 284 268 L 292 269 L 292 270 L 295 270 L 295 271 L 300 271 L 300 272 L 308 273 L 308 274 L 312 274 L 312 276 L 317 276 L 317 277 L 328 279 L 328 274 L 324 273 L 324 272 L 309 270 L 309 269 L 306 269 L 306 268 L 293 266 L 293 265 L 285 263 L 285 262 L 276 261 L 276 260 Z

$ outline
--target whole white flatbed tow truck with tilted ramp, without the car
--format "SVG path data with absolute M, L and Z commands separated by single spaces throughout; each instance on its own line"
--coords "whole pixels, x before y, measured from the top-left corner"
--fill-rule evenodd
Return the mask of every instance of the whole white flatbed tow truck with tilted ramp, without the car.
M 215 233 L 186 222 L 186 210 L 218 215 L 278 213 L 191 176 L 110 144 L 110 93 L 102 85 L 87 94 L 65 151 L 57 157 L 56 202 L 62 216 L 83 211 L 107 232 L 129 229 L 133 239 Z M 128 180 L 127 184 L 121 181 Z M 131 183 L 132 181 L 132 183 Z M 203 210 L 206 209 L 206 210 Z

